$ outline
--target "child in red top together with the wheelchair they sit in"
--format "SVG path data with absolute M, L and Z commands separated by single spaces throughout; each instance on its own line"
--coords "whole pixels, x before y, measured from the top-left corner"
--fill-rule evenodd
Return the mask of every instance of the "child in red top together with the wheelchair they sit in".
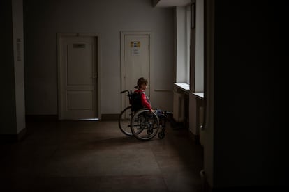
M 149 97 L 146 95 L 148 81 L 140 77 L 135 91 L 123 90 L 128 93 L 131 106 L 127 106 L 119 115 L 119 128 L 127 136 L 135 136 L 141 141 L 148 141 L 158 134 L 158 138 L 165 136 L 165 121 L 170 114 L 168 111 L 151 108 Z M 159 127 L 162 127 L 158 132 Z

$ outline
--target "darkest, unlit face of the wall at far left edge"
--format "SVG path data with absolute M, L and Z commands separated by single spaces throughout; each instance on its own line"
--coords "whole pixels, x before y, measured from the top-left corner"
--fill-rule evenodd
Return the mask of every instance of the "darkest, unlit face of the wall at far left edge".
M 16 109 L 15 109 L 15 74 L 13 65 L 13 26 L 12 26 L 12 4 L 11 1 L 0 1 L 0 135 L 16 134 Z M 5 46 L 4 46 L 5 45 Z

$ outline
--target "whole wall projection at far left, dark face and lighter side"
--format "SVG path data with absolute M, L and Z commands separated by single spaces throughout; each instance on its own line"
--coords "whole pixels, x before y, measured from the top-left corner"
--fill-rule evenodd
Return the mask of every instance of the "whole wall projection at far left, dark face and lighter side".
M 0 134 L 18 134 L 25 128 L 22 0 L 1 1 L 0 7 L 5 45 L 1 49 Z M 21 41 L 18 46 L 17 39 Z

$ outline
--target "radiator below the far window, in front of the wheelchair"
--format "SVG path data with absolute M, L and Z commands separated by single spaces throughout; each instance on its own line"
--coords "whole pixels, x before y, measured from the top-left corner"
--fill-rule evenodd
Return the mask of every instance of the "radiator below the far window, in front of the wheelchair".
M 173 118 L 176 122 L 184 122 L 184 94 L 174 91 Z

